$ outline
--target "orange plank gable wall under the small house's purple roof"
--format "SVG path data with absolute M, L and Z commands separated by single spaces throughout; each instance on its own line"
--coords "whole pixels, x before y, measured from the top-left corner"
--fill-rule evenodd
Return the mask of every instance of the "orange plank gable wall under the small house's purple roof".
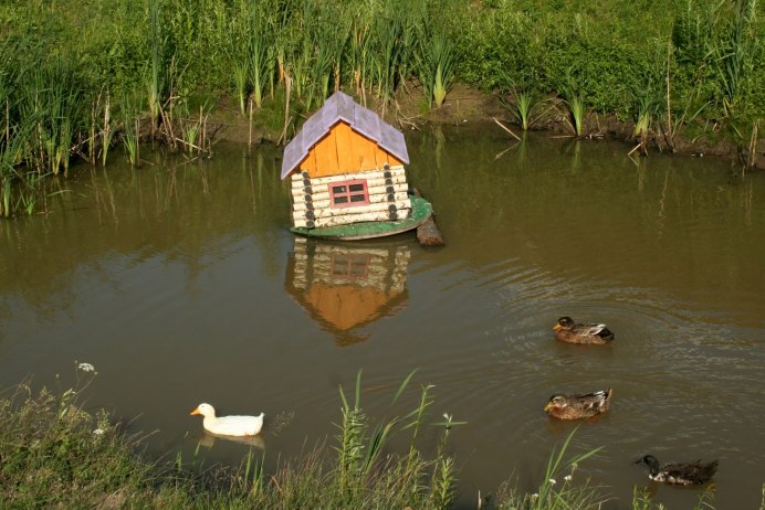
M 402 164 L 347 124 L 338 123 L 308 151 L 300 170 L 316 178 L 374 170 L 385 163 Z

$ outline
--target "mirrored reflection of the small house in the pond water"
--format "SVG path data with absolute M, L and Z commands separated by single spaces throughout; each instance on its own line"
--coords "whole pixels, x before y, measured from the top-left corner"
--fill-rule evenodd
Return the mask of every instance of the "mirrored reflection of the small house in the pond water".
M 396 314 L 408 301 L 406 242 L 354 242 L 295 237 L 284 287 L 311 317 L 348 346 L 369 334 L 358 329 Z

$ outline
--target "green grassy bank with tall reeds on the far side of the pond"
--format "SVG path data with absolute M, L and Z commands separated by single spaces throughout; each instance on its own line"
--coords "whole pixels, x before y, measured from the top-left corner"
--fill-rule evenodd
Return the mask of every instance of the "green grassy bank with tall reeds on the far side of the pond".
M 755 161 L 765 111 L 757 0 L 63 0 L 0 6 L 0 216 L 34 211 L 72 158 L 161 139 L 209 150 L 210 115 L 282 140 L 335 89 L 409 118 L 455 83 L 524 128 L 629 123 L 643 152 L 679 140 Z M 402 102 L 406 103 L 406 102 Z M 410 102 L 411 103 L 411 102 Z

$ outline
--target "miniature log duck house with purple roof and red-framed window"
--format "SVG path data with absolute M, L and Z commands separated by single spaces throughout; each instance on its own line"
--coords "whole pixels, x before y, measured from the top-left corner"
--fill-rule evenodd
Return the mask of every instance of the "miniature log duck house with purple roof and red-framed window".
M 329 97 L 284 149 L 292 222 L 321 229 L 411 215 L 404 135 L 342 92 Z

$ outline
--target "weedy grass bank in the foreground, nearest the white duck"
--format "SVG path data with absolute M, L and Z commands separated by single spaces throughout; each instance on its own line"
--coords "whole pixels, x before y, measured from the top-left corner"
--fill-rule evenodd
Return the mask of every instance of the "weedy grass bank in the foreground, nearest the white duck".
M 35 393 L 20 384 L 0 397 L 0 507 L 453 508 L 459 472 L 449 440 L 462 423 L 449 415 L 433 422 L 432 386 L 419 389 L 415 408 L 373 426 L 360 406 L 359 372 L 354 394 L 346 396 L 340 389 L 342 415 L 331 445 L 283 463 L 275 472 L 265 472 L 263 458 L 252 450 L 237 467 L 200 470 L 197 459 L 148 459 L 142 454 L 142 437 L 126 435 L 104 411 L 85 411 L 81 400 L 94 372 L 87 363 L 80 369 L 75 389 Z M 409 391 L 411 376 L 394 395 L 391 410 Z M 419 447 L 428 427 L 440 431 L 430 454 Z M 506 482 L 489 498 L 475 495 L 476 508 L 598 509 L 612 500 L 577 474 L 600 448 L 572 455 L 575 433 L 552 451 L 536 491 L 521 492 Z M 405 437 L 408 446 L 391 451 L 388 440 L 395 435 Z M 635 510 L 663 508 L 637 489 L 627 501 Z M 702 492 L 695 508 L 714 508 L 711 493 Z

